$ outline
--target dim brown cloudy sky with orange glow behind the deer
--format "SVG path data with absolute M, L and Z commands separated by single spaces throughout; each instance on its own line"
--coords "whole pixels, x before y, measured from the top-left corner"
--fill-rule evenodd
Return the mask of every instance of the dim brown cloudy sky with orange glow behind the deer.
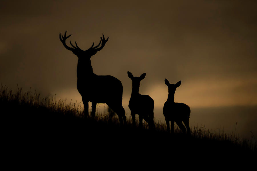
M 81 101 L 77 56 L 59 33 L 86 50 L 102 33 L 109 40 L 91 57 L 97 75 L 123 84 L 146 73 L 139 93 L 163 107 L 168 88 L 190 107 L 257 105 L 256 1 L 1 1 L 0 83 Z

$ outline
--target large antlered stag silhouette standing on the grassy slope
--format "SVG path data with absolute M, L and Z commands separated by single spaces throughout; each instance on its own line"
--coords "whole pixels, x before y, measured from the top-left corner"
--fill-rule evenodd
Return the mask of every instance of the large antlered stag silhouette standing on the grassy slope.
M 72 47 L 69 47 L 66 44 L 66 39 L 71 36 L 66 36 L 66 33 L 67 31 L 65 31 L 64 36 L 60 33 L 60 40 L 66 49 L 71 50 L 71 52 L 78 57 L 77 89 L 81 94 L 84 104 L 84 116 L 87 117 L 88 115 L 89 102 L 92 102 L 91 115 L 93 118 L 95 117 L 97 103 L 106 103 L 115 113 L 117 113 L 120 124 L 123 124 L 123 122 L 126 124 L 125 110 L 122 106 L 123 86 L 121 81 L 113 76 L 96 75 L 94 74 L 91 66 L 91 56 L 103 49 L 109 37 L 105 40 L 105 36 L 103 34 L 103 38 L 101 37 L 97 46 L 94 47 L 95 42 L 93 42 L 89 49 L 82 50 L 77 45 L 77 42 L 75 42 L 76 46 L 74 46 L 70 41 Z

